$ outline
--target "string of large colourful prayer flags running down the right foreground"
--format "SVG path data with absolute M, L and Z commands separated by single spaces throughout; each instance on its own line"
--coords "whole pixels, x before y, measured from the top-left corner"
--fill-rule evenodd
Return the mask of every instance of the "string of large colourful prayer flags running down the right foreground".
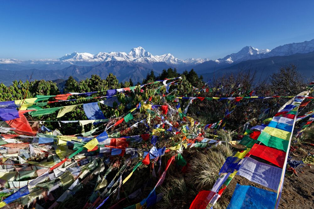
M 284 173 L 288 157 L 287 153 L 290 148 L 296 115 L 301 102 L 303 102 L 309 92 L 310 91 L 301 92 L 286 102 L 286 104 L 279 109 L 278 113 L 275 114 L 275 117 L 268 120 L 270 123 L 268 123 L 267 126 L 257 127 L 257 130 L 259 131 L 246 131 L 246 136 L 240 142 L 240 144 L 247 146 L 246 150 L 242 153 L 237 152 L 234 157 L 227 158 L 219 172 L 220 177 L 216 181 L 212 190 L 217 192 L 217 189 L 225 179 L 224 184 L 225 186 L 228 185 L 230 180 L 237 174 L 244 176 L 252 182 L 277 190 L 277 194 L 253 186 L 237 185 L 228 208 L 278 207 L 283 187 Z M 262 142 L 266 146 L 263 144 L 255 144 L 255 140 Z M 267 160 L 279 168 L 258 162 L 247 155 L 254 155 Z M 244 158 L 245 156 L 247 157 Z M 221 189 L 220 191 L 222 192 L 223 190 Z M 215 198 L 209 200 L 212 204 L 214 204 L 220 197 L 219 193 L 214 193 L 213 195 Z M 198 199 L 195 198 L 194 201 L 196 200 Z M 206 203 L 208 204 L 209 201 L 206 201 Z

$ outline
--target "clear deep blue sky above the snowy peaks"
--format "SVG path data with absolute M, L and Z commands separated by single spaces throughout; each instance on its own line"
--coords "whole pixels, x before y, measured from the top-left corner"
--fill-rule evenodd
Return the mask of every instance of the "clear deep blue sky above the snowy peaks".
M 314 1 L 0 1 L 0 58 L 125 51 L 217 59 L 314 38 Z

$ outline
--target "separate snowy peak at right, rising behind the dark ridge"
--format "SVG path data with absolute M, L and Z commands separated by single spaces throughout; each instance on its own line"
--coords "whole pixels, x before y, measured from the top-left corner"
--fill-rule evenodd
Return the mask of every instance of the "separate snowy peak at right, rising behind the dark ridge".
M 256 49 L 252 46 L 245 46 L 239 52 L 232 53 L 230 55 L 225 56 L 224 58 L 220 58 L 215 60 L 217 63 L 226 62 L 226 63 L 234 63 L 234 62 L 241 62 L 244 60 L 252 60 L 258 59 L 258 56 L 269 53 L 271 50 L 269 49 Z

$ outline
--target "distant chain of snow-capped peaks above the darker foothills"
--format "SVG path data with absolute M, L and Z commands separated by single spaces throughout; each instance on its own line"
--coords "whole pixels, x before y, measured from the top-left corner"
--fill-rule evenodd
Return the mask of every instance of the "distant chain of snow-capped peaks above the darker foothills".
M 286 56 L 295 53 L 309 53 L 314 51 L 314 39 L 304 41 L 302 43 L 285 44 L 278 46 L 273 50 L 257 49 L 252 46 L 243 47 L 239 52 L 232 53 L 217 60 L 209 60 L 202 58 L 189 58 L 181 60 L 172 54 L 152 55 L 143 47 L 133 48 L 129 53 L 126 52 L 99 52 L 97 54 L 78 53 L 66 54 L 57 59 L 41 59 L 41 60 L 17 60 L 17 59 L 0 59 L 0 64 L 15 64 L 28 66 L 30 69 L 36 68 L 40 70 L 62 69 L 69 65 L 92 66 L 108 61 L 124 61 L 145 66 L 150 69 L 160 70 L 160 68 L 176 67 L 185 70 L 186 68 L 196 65 L 202 65 L 202 69 L 217 69 L 217 66 L 234 65 L 245 60 L 257 60 L 273 56 Z M 3 69 L 11 69 L 10 66 L 4 66 Z M 17 69 L 16 66 L 12 69 Z M 21 69 L 24 69 L 23 67 Z

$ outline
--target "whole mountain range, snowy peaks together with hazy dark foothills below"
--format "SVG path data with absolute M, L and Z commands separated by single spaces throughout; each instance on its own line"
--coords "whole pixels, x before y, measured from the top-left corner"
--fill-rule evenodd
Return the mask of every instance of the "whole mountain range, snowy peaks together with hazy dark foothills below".
M 105 78 L 109 73 L 117 76 L 119 81 L 142 81 L 146 74 L 153 69 L 157 74 L 169 67 L 179 72 L 191 70 L 207 76 L 214 71 L 229 72 L 240 67 L 255 68 L 260 71 L 273 72 L 281 65 L 291 62 L 301 65 L 300 71 L 308 76 L 314 67 L 314 39 L 301 43 L 285 44 L 273 50 L 257 49 L 245 46 L 239 52 L 226 55 L 217 60 L 203 58 L 189 58 L 181 60 L 171 54 L 152 55 L 142 47 L 133 48 L 125 52 L 99 52 L 98 54 L 78 53 L 66 54 L 57 59 L 18 60 L 0 59 L 0 79 L 5 85 L 13 80 L 26 80 L 32 75 L 32 80 L 67 79 L 73 76 L 77 80 L 98 74 Z M 280 65 L 280 66 L 279 66 Z

